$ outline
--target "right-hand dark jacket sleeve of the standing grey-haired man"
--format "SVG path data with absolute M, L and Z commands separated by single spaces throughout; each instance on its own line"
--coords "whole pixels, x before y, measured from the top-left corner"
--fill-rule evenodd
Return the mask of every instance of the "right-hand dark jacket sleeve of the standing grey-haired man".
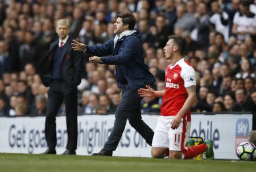
M 81 83 L 83 74 L 83 58 L 81 51 L 73 51 L 73 63 L 74 63 L 74 74 L 73 74 L 73 85 L 77 87 Z

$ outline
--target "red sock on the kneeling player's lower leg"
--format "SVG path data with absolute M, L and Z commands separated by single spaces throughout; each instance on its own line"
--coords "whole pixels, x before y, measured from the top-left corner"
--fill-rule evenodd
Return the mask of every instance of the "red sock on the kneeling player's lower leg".
M 207 150 L 207 145 L 205 143 L 200 145 L 195 145 L 192 147 L 187 147 L 188 150 L 183 149 L 184 159 L 191 159 Z

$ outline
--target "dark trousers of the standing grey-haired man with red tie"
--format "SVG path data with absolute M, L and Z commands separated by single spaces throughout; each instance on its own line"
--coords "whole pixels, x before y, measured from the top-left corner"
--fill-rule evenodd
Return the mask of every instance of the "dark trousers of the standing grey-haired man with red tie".
M 48 91 L 47 113 L 46 113 L 46 141 L 50 149 L 55 149 L 56 138 L 56 115 L 61 106 L 65 103 L 66 123 L 69 151 L 77 148 L 77 89 L 69 86 L 62 80 L 54 80 Z

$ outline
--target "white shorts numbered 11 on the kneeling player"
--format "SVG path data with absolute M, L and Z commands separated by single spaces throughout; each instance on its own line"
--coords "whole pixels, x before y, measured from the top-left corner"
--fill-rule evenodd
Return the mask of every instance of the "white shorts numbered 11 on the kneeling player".
M 191 122 L 181 121 L 178 128 L 172 130 L 172 116 L 160 116 L 152 141 L 152 147 L 169 148 L 170 151 L 183 151 L 188 141 Z

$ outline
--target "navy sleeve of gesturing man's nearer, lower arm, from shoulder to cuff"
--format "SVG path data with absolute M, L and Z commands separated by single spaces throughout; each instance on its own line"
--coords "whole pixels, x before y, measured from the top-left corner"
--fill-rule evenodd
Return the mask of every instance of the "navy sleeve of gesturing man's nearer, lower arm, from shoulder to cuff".
M 108 65 L 122 65 L 131 62 L 137 58 L 138 49 L 141 48 L 141 41 L 138 37 L 128 36 L 125 45 L 117 55 L 110 57 L 101 57 L 101 61 Z

